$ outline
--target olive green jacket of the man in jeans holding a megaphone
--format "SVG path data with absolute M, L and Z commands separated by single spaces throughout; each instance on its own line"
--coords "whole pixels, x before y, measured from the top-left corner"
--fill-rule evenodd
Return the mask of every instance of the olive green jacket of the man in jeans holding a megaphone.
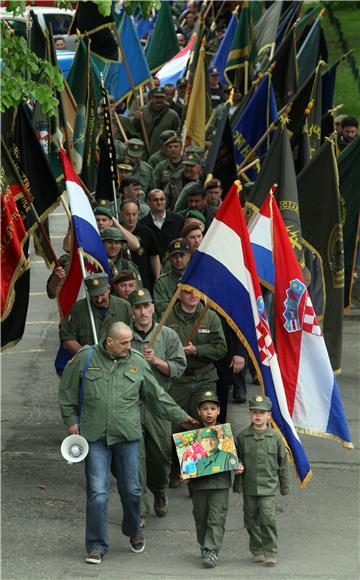
M 78 421 L 80 382 L 89 352 L 81 348 L 68 362 L 59 388 L 64 423 Z M 137 441 L 142 436 L 140 401 L 161 419 L 182 423 L 187 414 L 156 381 L 142 354 L 132 350 L 116 359 L 104 348 L 104 337 L 94 346 L 83 384 L 80 433 L 89 442 L 108 445 Z

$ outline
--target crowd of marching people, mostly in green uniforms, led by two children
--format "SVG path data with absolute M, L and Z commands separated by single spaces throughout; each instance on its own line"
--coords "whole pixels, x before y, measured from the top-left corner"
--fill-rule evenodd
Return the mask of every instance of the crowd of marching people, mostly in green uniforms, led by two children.
M 201 10 L 201 2 L 173 3 L 180 46 L 190 40 Z M 155 514 L 165 517 L 167 487 L 181 483 L 172 434 L 204 427 L 204 439 L 211 453 L 217 453 L 215 426 L 227 421 L 229 397 L 245 404 L 246 381 L 259 384 L 226 318 L 191 288 L 178 287 L 227 193 L 220 176 L 205 172 L 223 112 L 231 118 L 244 97 L 243 87 L 221 83 L 218 68 L 211 64 L 227 24 L 228 18 L 221 17 L 206 29 L 212 114 L 204 147 L 183 139 L 185 77 L 160 86 L 155 74 L 141 99 L 116 103 L 109 95 L 109 110 L 106 103 L 99 104 L 99 119 L 104 113 L 111 118 L 117 183 L 114 196 L 99 187 L 89 196 L 111 275 L 87 273 L 88 300 L 72 306 L 59 333 L 70 359 L 60 381 L 62 417 L 69 434 L 82 434 L 90 445 L 85 466 L 90 564 L 101 563 L 109 547 L 111 474 L 123 507 L 122 531 L 132 551 L 140 553 L 151 509 L 149 492 Z M 356 137 L 358 122 L 347 115 L 335 121 L 338 148 L 343 150 Z M 99 163 L 98 154 L 94 163 Z M 71 228 L 64 232 L 64 255 L 47 282 L 52 299 L 69 271 L 71 235 Z M 289 491 L 287 454 L 270 426 L 271 401 L 259 393 L 249 408 L 251 425 L 237 440 L 239 461 L 233 468 L 238 490 L 244 493 L 254 562 L 273 566 L 274 496 Z M 223 542 L 232 482 L 229 471 L 211 471 L 210 459 L 206 468 L 189 492 L 202 563 L 213 568 Z

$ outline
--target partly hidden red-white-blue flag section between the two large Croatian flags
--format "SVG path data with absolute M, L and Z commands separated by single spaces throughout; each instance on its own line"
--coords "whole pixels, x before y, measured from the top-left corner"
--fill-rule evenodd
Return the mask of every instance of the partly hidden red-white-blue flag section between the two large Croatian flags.
M 272 254 L 272 234 L 269 204 L 263 204 L 248 224 L 251 248 L 255 258 L 256 271 L 260 282 L 274 288 L 275 269 Z

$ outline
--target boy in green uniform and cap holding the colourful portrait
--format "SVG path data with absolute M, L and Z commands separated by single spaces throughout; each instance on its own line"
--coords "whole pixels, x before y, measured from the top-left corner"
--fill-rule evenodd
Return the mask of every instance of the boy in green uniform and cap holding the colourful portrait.
M 214 427 L 219 413 L 219 399 L 213 391 L 206 391 L 200 397 L 198 408 L 198 414 L 205 427 L 201 436 L 207 455 L 198 462 L 197 470 L 198 473 L 201 471 L 204 477 L 191 480 L 189 488 L 201 559 L 207 568 L 215 568 L 217 565 L 229 505 L 231 471 L 220 472 L 220 469 L 224 467 L 231 469 L 235 463 L 237 464 L 236 457 L 232 453 L 218 449 L 218 434 Z M 239 469 L 240 471 L 236 473 L 241 472 L 242 466 Z M 205 475 L 207 473 L 214 475 Z

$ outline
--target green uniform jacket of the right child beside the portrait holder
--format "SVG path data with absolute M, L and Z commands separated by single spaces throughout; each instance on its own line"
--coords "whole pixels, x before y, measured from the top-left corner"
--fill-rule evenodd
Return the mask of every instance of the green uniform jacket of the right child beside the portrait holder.
M 268 425 L 255 432 L 252 425 L 241 431 L 236 440 L 239 462 L 244 473 L 237 475 L 234 491 L 246 495 L 275 495 L 290 489 L 290 470 L 281 435 Z

